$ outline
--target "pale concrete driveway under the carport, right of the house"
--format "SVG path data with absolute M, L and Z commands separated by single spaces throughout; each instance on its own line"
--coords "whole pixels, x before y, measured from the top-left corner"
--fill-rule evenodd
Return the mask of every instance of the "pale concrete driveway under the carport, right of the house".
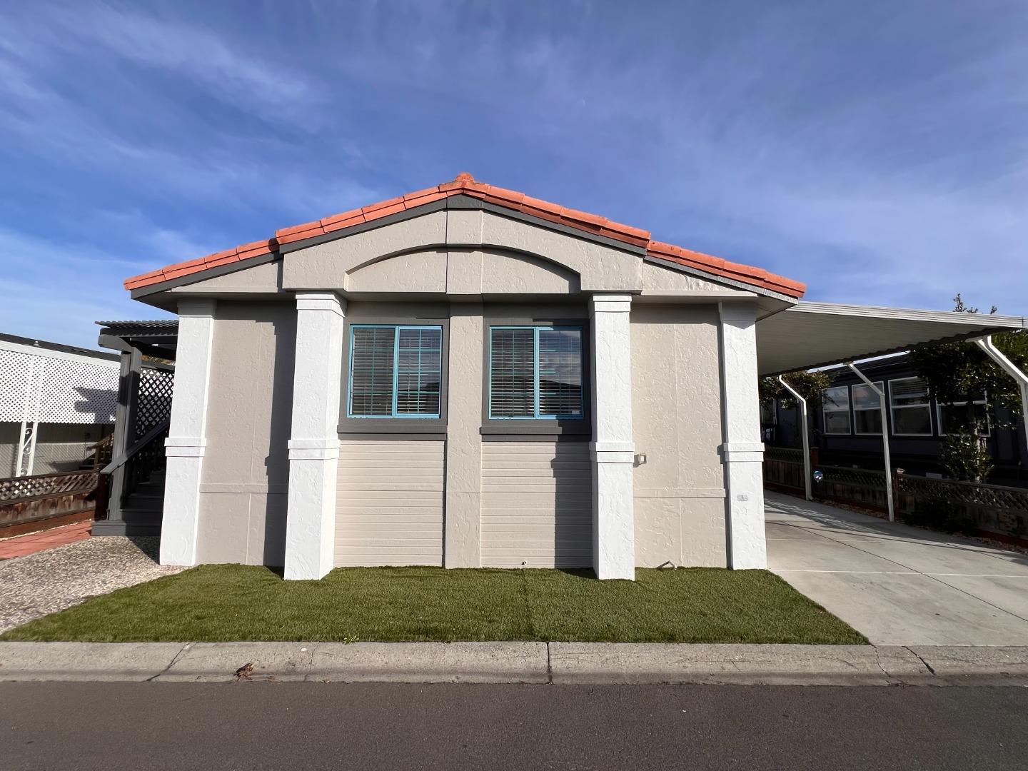
M 1028 555 L 765 491 L 768 567 L 876 645 L 1028 645 Z

